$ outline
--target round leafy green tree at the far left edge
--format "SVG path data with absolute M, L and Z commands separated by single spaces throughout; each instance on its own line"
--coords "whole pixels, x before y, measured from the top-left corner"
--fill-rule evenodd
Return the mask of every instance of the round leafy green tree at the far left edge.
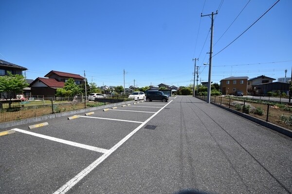
M 0 76 L 0 94 L 6 100 L 9 100 L 9 108 L 11 108 L 11 99 L 17 93 L 22 93 L 23 88 L 29 84 L 22 75 L 12 75 L 8 72 L 6 76 Z

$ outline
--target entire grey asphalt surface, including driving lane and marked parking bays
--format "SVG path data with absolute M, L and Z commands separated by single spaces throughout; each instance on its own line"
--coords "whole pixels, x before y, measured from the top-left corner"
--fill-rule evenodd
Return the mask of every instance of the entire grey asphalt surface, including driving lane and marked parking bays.
M 0 136 L 0 193 L 292 193 L 292 139 L 200 99 L 83 115 Z

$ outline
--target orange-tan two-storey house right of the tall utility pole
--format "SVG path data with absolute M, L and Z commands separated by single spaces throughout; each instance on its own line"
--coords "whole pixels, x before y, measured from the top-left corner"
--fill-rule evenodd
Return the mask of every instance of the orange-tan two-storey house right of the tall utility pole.
M 242 91 L 243 95 L 247 95 L 247 76 L 235 77 L 231 76 L 220 81 L 221 92 L 223 95 L 235 95 L 237 91 Z

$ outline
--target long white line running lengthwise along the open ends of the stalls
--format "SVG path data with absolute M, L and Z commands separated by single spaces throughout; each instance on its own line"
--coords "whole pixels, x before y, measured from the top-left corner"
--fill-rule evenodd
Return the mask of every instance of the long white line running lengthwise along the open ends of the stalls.
M 170 102 L 164 105 L 164 107 L 166 107 Z M 91 170 L 93 170 L 96 166 L 98 166 L 98 164 L 100 164 L 105 159 L 107 159 L 112 152 L 114 152 L 117 148 L 122 146 L 132 135 L 134 135 L 139 129 L 141 129 L 146 123 L 148 123 L 154 116 L 156 116 L 161 110 L 163 110 L 164 107 L 162 107 L 159 111 L 157 111 L 155 114 L 150 116 L 145 122 L 139 125 L 139 127 L 134 129 L 126 137 L 124 137 L 119 143 L 111 147 L 107 153 L 103 154 L 96 161 L 92 162 L 88 167 L 86 167 L 79 174 L 77 174 L 75 177 L 69 180 L 66 184 L 64 184 L 61 188 L 59 188 L 54 194 L 65 194 L 67 191 L 69 191 L 75 184 L 77 184 L 82 178 L 84 178 L 88 173 L 90 173 Z

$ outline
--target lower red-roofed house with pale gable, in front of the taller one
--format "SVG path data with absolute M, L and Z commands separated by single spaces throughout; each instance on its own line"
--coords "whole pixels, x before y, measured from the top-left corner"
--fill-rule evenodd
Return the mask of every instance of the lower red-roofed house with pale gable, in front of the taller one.
M 56 89 L 63 88 L 65 82 L 53 78 L 37 78 L 31 84 L 32 96 L 55 97 Z

